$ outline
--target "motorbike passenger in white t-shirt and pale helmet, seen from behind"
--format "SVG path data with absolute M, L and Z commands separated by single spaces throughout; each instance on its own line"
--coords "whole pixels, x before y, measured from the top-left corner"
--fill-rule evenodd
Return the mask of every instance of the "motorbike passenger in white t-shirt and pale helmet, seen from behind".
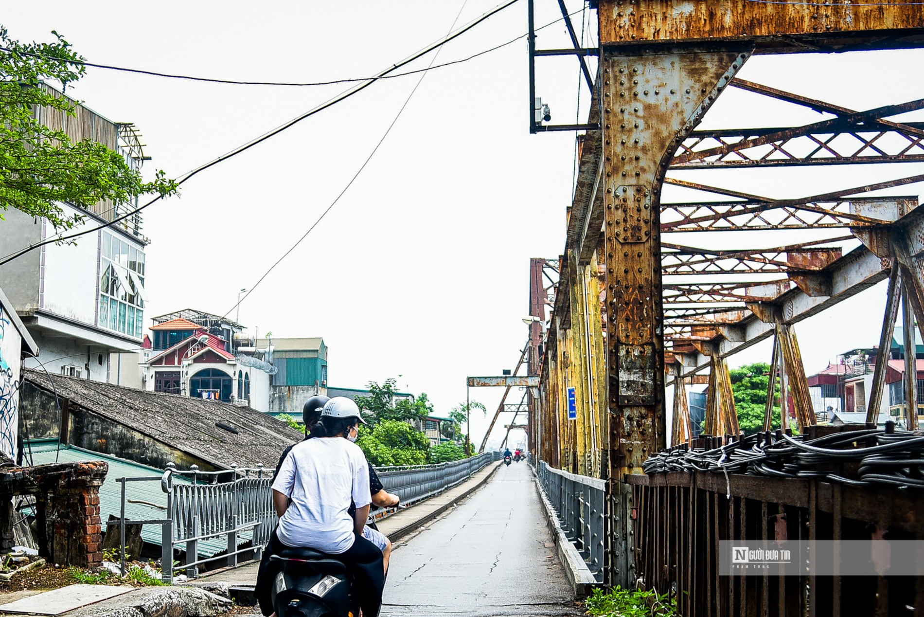
M 311 438 L 292 447 L 273 483 L 279 524 L 264 557 L 286 547 L 328 553 L 346 564 L 365 617 L 376 617 L 384 588 L 383 551 L 363 537 L 371 504 L 369 463 L 352 441 L 363 422 L 356 403 L 334 397 L 311 427 Z M 351 518 L 347 511 L 355 504 Z M 255 595 L 263 615 L 273 614 L 273 561 L 261 561 Z

